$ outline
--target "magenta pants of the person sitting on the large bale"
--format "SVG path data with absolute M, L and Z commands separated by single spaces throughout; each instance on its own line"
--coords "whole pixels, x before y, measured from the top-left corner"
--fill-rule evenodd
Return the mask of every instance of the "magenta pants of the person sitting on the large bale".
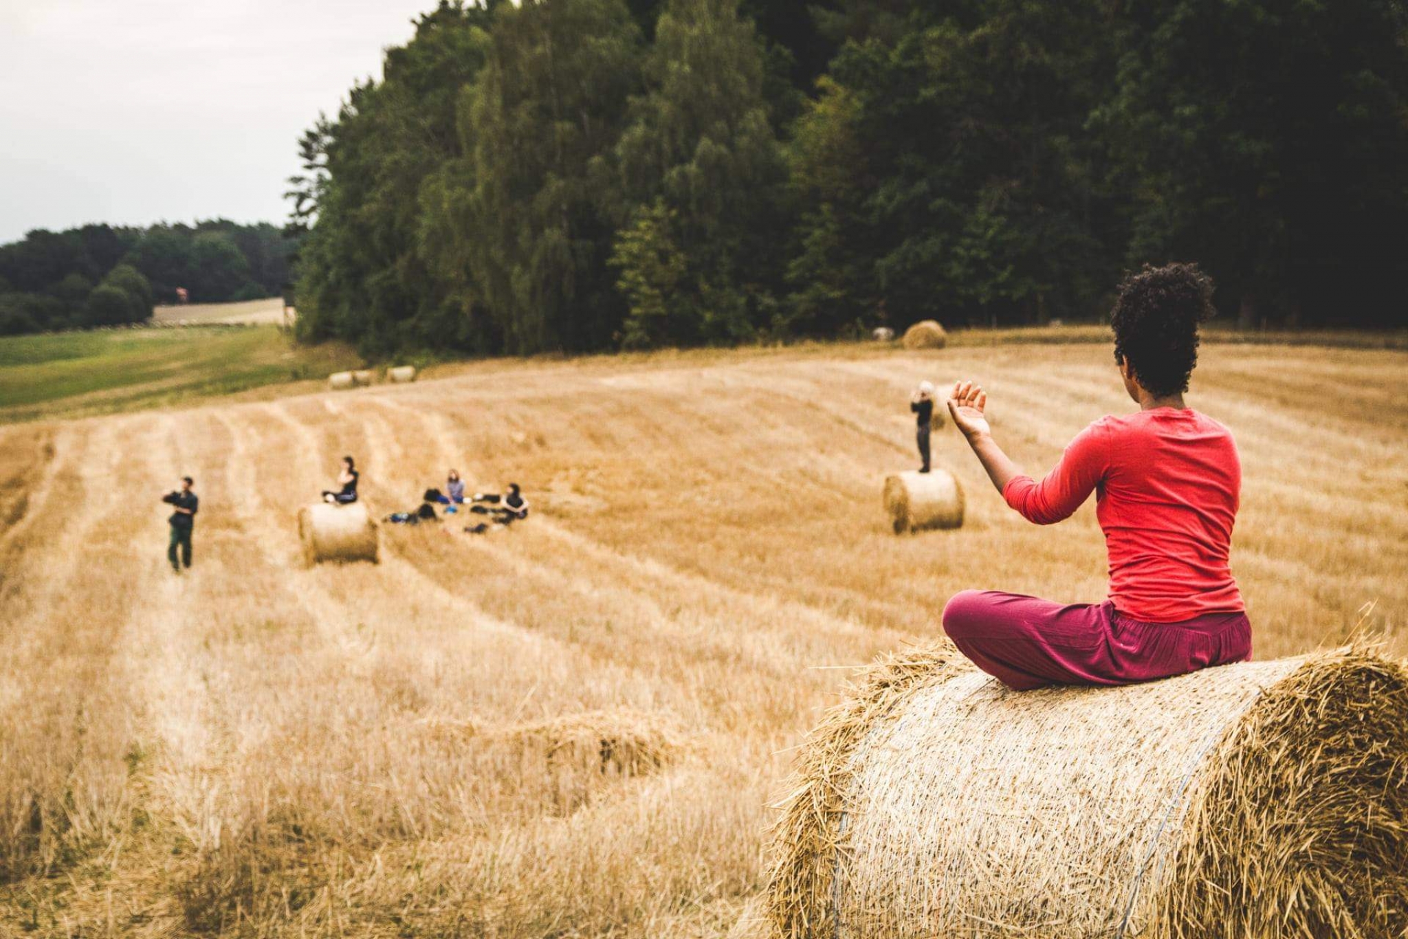
M 1252 657 L 1245 612 L 1140 622 L 1110 601 L 1062 605 L 1000 590 L 964 590 L 943 631 L 973 663 L 1026 691 L 1048 684 L 1133 684 Z

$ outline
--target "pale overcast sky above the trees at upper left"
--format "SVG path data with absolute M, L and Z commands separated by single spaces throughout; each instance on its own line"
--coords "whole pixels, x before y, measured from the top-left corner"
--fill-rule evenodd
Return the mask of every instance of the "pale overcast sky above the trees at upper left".
M 435 0 L 0 0 L 0 242 L 286 217 L 298 135 Z

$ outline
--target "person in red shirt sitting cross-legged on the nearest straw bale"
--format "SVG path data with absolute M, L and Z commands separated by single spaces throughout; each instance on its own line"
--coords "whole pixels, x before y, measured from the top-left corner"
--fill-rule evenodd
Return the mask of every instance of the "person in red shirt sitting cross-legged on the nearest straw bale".
M 1212 282 L 1194 265 L 1125 279 L 1111 314 L 1115 363 L 1135 414 L 1102 417 L 1042 481 L 1008 459 L 984 417 L 987 394 L 959 382 L 955 425 L 1015 511 L 1038 525 L 1095 493 L 1110 555 L 1100 604 L 964 590 L 943 608 L 959 650 L 1004 684 L 1128 684 L 1252 657 L 1252 624 L 1228 556 L 1242 487 L 1232 434 L 1183 401 Z

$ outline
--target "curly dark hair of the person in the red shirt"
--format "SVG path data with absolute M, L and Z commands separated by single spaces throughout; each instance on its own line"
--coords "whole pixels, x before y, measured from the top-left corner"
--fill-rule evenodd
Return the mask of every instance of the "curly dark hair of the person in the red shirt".
M 1188 390 L 1198 363 L 1198 324 L 1212 315 L 1212 279 L 1197 265 L 1143 266 L 1119 284 L 1110 314 L 1115 362 L 1129 360 L 1139 384 L 1166 397 Z

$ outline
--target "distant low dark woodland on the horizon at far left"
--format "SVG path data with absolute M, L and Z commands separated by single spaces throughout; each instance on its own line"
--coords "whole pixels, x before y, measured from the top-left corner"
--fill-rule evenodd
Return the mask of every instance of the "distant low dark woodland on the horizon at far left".
M 289 286 L 297 235 L 260 222 L 31 231 L 0 245 L 0 335 L 141 322 L 158 303 L 256 300 Z

